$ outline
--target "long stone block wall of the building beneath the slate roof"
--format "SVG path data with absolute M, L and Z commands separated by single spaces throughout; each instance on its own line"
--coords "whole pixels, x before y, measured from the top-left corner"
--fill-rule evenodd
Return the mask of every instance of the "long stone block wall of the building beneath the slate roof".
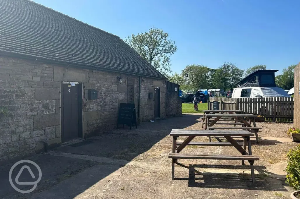
M 127 103 L 128 78 L 135 81 L 138 113 L 137 76 L 0 57 L 0 106 L 9 111 L 0 118 L 0 161 L 38 153 L 44 143 L 48 148 L 61 145 L 61 81 L 83 84 L 83 138 L 116 128 L 118 106 Z M 161 117 L 165 117 L 164 81 L 141 77 L 140 121 L 154 119 L 154 101 L 148 94 L 155 86 L 161 88 Z M 96 89 L 98 99 L 88 100 L 88 89 Z

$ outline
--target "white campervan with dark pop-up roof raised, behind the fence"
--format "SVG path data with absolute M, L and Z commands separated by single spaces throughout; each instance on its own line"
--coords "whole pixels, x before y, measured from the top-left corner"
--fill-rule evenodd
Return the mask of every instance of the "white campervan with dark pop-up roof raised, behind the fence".
M 232 98 L 290 97 L 275 84 L 275 72 L 278 70 L 256 70 L 237 83 Z

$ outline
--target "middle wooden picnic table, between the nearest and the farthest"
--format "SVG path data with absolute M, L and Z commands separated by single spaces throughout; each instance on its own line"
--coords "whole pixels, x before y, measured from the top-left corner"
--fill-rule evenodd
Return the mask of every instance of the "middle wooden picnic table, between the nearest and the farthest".
M 245 117 L 249 118 L 249 122 L 245 120 Z M 213 130 L 213 129 L 242 129 L 242 130 L 254 130 L 256 142 L 258 142 L 258 129 L 261 127 L 256 127 L 255 123 L 256 115 L 253 114 L 205 114 L 205 130 Z M 221 118 L 233 118 L 234 123 L 217 123 Z M 239 122 L 239 123 L 238 123 Z M 253 126 L 251 126 L 251 122 L 253 122 Z M 241 127 L 213 127 L 214 124 L 241 124 Z M 209 137 L 210 138 L 210 137 Z

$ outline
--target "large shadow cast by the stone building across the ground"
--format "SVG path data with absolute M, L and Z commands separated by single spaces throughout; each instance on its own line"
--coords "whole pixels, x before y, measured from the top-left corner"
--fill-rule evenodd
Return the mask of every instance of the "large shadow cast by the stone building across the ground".
M 61 146 L 56 148 L 55 151 L 107 157 L 127 162 L 148 151 L 158 141 L 169 135 L 172 129 L 184 129 L 199 122 L 197 121 L 199 118 L 200 116 L 195 115 L 194 117 L 155 120 L 154 122 L 142 123 L 137 129 L 129 130 L 125 127 L 124 129 L 105 132 L 81 143 Z M 170 150 L 171 148 L 170 144 Z M 38 184 L 38 188 L 26 195 L 13 190 L 8 181 L 8 173 L 14 162 L 7 163 L 0 166 L 1 198 L 73 198 L 124 166 L 124 164 L 104 165 L 94 161 L 49 154 L 38 154 L 28 159 L 41 167 L 42 179 Z M 18 171 L 17 169 L 14 170 L 12 179 L 15 179 Z M 71 178 L 75 174 L 77 174 L 76 179 Z M 22 176 L 22 181 L 32 182 L 34 180 L 27 172 Z M 28 187 L 29 185 L 23 185 L 19 188 L 28 190 Z M 40 193 L 41 191 L 43 192 Z

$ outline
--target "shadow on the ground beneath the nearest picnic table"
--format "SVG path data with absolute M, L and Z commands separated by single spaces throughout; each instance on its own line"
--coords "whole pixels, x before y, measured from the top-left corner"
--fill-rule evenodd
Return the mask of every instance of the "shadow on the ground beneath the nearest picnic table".
M 209 169 L 249 169 L 247 165 L 232 166 L 232 165 L 193 165 L 189 166 L 177 163 L 177 165 L 189 169 L 188 178 L 175 178 L 175 180 L 188 180 L 188 187 L 198 188 L 226 188 L 226 189 L 246 189 L 246 190 L 262 190 L 262 191 L 288 191 L 284 187 L 284 182 L 278 179 L 272 179 L 269 176 L 274 175 L 265 171 L 264 166 L 255 166 L 255 169 L 259 172 L 255 175 L 256 182 L 253 183 L 250 174 L 238 173 L 208 173 L 199 172 L 198 168 Z M 280 179 L 284 179 L 285 176 L 278 176 Z M 274 182 L 276 181 L 276 182 Z

